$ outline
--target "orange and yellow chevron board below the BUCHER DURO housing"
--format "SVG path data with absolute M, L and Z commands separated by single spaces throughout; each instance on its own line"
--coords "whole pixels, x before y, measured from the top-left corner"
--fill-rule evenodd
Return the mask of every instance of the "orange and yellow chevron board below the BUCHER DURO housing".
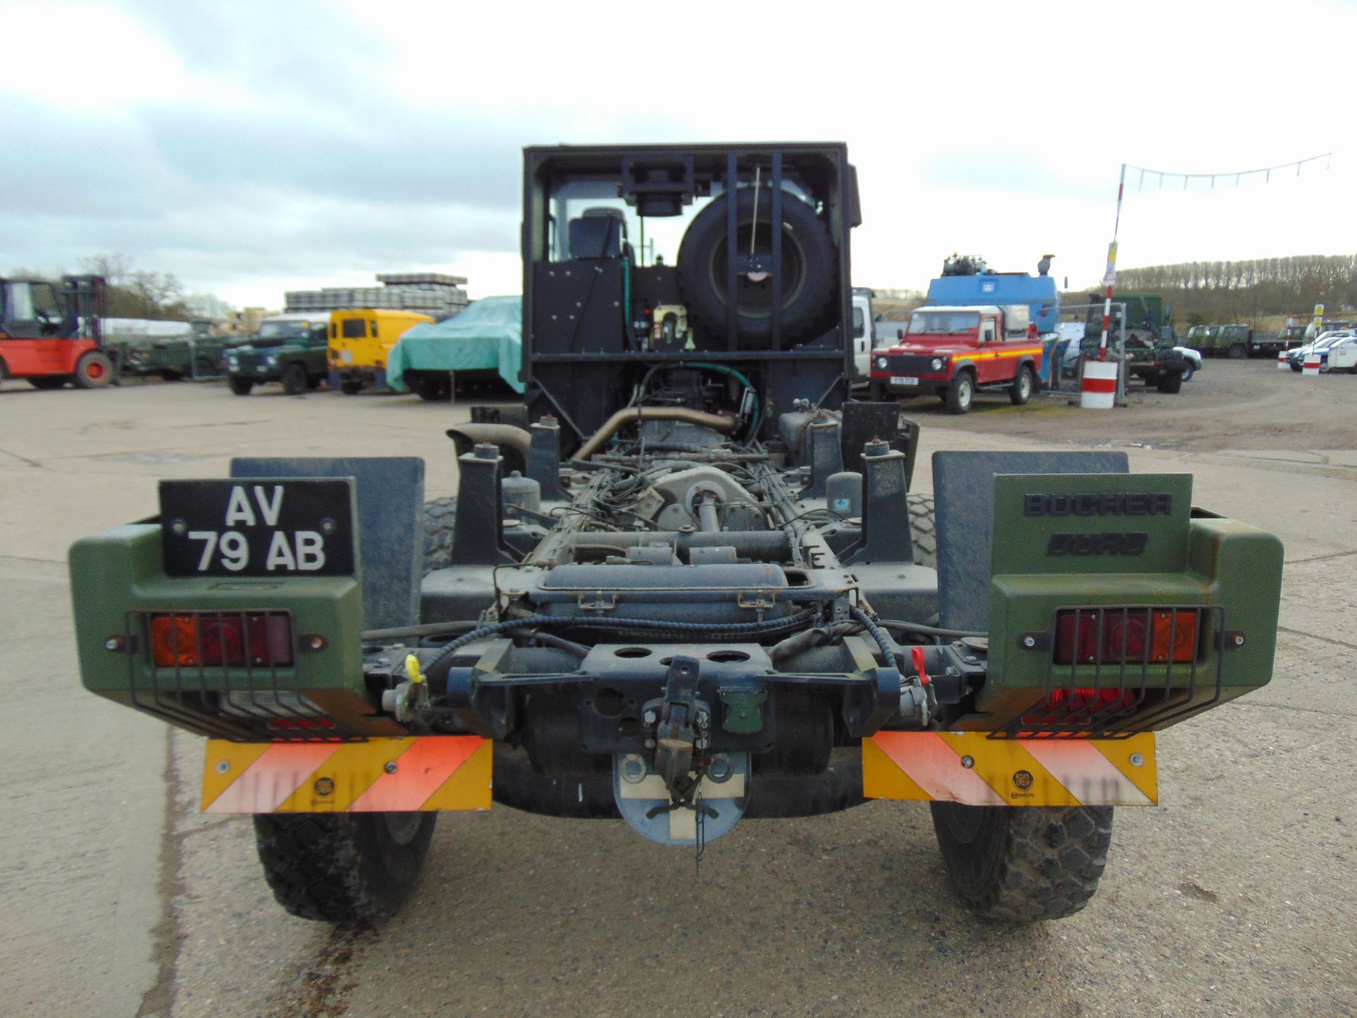
M 989 738 L 985 732 L 878 732 L 862 741 L 867 798 L 968 806 L 1152 806 L 1155 736 Z

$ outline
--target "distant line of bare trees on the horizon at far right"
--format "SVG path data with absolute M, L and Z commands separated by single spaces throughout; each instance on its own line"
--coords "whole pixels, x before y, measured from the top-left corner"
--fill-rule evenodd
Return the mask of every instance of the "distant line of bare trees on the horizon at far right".
M 1095 289 L 1095 288 L 1094 288 Z M 1357 255 L 1292 255 L 1239 262 L 1181 262 L 1120 269 L 1118 290 L 1159 293 L 1181 324 L 1307 318 L 1357 307 Z M 1084 295 L 1079 295 L 1086 299 Z

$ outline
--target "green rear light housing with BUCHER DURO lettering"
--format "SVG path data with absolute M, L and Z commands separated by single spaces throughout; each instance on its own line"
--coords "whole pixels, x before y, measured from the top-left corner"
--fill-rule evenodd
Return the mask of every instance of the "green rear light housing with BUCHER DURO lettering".
M 1000 475 L 995 485 L 989 668 L 959 728 L 1158 730 L 1272 679 L 1281 542 L 1193 510 L 1190 475 Z M 1071 612 L 1106 627 L 1092 641 L 1106 650 L 1071 656 Z M 1155 619 L 1191 619 L 1194 650 L 1158 662 L 1143 642 L 1139 656 L 1114 653 L 1128 622 L 1134 633 Z M 1067 713 L 1058 732 L 1041 723 L 1052 704 L 1094 700 L 1115 710 Z

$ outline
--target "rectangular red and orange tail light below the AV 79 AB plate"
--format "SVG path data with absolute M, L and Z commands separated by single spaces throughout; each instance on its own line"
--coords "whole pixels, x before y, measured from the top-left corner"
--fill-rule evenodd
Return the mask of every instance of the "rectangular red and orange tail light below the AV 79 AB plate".
M 292 664 L 292 622 L 281 612 L 153 615 L 151 646 L 159 668 Z

